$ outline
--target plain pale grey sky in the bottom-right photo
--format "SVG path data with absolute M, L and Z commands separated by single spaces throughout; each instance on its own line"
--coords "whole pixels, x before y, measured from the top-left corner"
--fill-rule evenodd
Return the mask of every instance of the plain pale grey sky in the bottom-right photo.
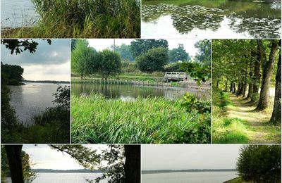
M 240 145 L 142 145 L 142 170 L 233 169 Z

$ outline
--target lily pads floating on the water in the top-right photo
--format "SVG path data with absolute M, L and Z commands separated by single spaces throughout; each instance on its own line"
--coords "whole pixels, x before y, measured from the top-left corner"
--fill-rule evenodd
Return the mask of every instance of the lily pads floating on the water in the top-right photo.
M 257 11 L 259 10 L 254 12 Z M 216 31 L 223 28 L 243 35 L 243 37 L 280 37 L 281 16 L 271 15 L 271 12 L 269 14 L 266 16 L 264 13 L 258 16 L 257 13 L 252 12 L 234 12 L 228 8 L 207 8 L 189 4 L 184 6 L 175 4 L 142 5 L 143 23 L 157 24 L 159 18 L 169 16 L 172 20 L 172 26 L 180 34 L 189 34 L 192 30 Z M 142 26 L 142 29 L 146 29 L 146 25 Z M 226 36 L 228 37 L 228 35 Z

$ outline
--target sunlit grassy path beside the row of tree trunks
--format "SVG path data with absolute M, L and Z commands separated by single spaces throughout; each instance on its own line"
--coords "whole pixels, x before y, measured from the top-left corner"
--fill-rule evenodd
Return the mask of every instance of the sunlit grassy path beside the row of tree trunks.
M 267 110 L 255 111 L 255 106 L 240 96 L 214 89 L 212 109 L 213 143 L 281 142 L 281 127 L 269 124 L 271 113 Z

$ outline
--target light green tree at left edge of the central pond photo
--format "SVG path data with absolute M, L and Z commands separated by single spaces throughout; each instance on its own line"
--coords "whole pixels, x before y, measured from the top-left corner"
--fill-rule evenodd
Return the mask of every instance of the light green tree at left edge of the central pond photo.
M 71 51 L 71 70 L 80 75 L 83 79 L 89 75 L 93 66 L 91 60 L 94 58 L 95 51 L 90 48 L 86 39 L 77 41 L 75 49 Z

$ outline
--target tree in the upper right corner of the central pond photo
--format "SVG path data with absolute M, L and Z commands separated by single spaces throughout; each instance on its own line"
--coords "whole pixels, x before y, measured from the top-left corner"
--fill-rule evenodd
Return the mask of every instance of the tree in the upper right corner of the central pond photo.
M 211 42 L 208 39 L 196 42 L 195 48 L 199 50 L 196 54 L 197 61 L 204 63 L 204 65 L 211 65 Z

